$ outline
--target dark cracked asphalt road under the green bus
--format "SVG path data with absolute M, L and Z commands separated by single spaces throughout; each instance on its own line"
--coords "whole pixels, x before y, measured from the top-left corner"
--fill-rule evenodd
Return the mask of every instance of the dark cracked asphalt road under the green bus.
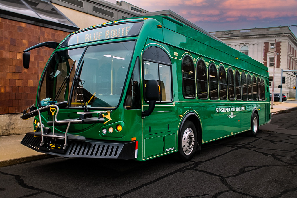
M 0 169 L 0 197 L 297 197 L 297 111 L 273 115 L 257 137 L 204 144 L 200 155 L 144 162 L 64 159 Z

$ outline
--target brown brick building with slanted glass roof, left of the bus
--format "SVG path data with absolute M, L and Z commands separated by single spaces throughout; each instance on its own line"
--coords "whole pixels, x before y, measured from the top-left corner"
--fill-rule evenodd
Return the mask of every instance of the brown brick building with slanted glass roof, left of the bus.
M 19 113 L 35 103 L 39 79 L 53 49 L 31 50 L 29 69 L 23 68 L 23 51 L 41 42 L 61 42 L 79 29 L 50 2 L 26 2 L 0 2 L 0 135 L 18 133 L 22 122 Z M 16 9 L 20 12 L 16 13 Z M 24 9 L 32 14 L 25 15 Z M 31 122 L 24 124 L 33 126 Z

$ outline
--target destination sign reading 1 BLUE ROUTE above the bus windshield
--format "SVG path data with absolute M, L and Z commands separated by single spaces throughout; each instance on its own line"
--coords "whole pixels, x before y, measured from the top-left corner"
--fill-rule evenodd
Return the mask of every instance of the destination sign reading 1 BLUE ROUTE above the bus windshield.
M 61 46 L 77 45 L 105 39 L 137 36 L 142 23 L 122 23 L 111 26 L 94 28 L 73 34 L 68 37 Z

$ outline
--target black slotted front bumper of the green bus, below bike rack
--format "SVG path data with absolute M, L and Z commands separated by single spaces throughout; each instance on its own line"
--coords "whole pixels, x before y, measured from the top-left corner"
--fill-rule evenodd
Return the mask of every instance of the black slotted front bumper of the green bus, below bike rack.
M 75 139 L 75 136 L 72 135 L 67 141 L 68 146 L 63 150 L 54 143 L 45 143 L 40 146 L 41 140 L 40 132 L 30 132 L 25 135 L 20 143 L 40 153 L 63 157 L 135 159 L 136 141 L 81 140 L 79 138 Z

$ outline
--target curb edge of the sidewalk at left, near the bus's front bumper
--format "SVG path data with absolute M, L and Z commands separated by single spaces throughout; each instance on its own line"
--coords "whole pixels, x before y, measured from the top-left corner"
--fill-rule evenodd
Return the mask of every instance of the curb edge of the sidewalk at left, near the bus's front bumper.
M 39 154 L 39 155 L 34 155 L 34 156 L 27 156 L 27 157 L 22 157 L 22 158 L 16 158 L 16 159 L 9 159 L 9 160 L 3 160 L 0 161 L 0 167 L 7 167 L 15 164 L 22 164 L 30 161 L 36 161 L 40 159 L 47 159 L 47 158 L 53 158 L 53 157 L 58 157 L 50 154 Z

